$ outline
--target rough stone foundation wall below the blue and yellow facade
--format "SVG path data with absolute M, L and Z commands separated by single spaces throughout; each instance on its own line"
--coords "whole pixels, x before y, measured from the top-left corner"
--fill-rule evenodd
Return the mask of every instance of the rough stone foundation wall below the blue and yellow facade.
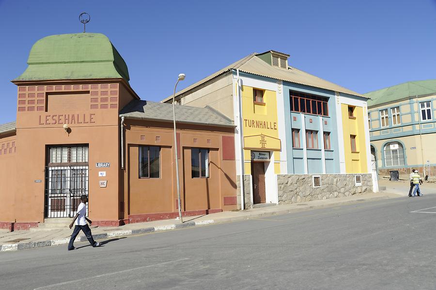
M 355 185 L 355 175 L 362 176 L 361 186 Z M 277 175 L 279 204 L 373 192 L 371 174 L 320 174 L 321 187 L 315 188 L 312 185 L 312 176 L 311 174 Z

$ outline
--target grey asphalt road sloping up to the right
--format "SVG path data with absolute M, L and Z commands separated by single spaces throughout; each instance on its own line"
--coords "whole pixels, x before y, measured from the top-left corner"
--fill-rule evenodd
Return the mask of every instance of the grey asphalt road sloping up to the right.
M 1 289 L 436 289 L 436 195 L 0 253 Z M 433 213 L 434 212 L 434 213 Z

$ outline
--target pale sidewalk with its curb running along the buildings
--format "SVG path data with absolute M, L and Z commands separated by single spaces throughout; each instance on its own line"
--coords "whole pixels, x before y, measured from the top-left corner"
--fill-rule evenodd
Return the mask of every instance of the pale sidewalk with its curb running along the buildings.
M 387 188 L 388 189 L 388 188 Z M 362 201 L 374 201 L 387 198 L 396 198 L 399 195 L 395 193 L 380 192 L 362 195 L 354 195 L 345 198 L 331 198 L 324 200 L 307 201 L 304 203 L 294 203 L 289 205 L 268 206 L 254 208 L 245 211 L 221 212 L 216 214 L 207 214 L 202 216 L 189 216 L 183 218 L 183 224 L 179 220 L 167 219 L 146 223 L 134 223 L 121 227 L 97 227 L 93 228 L 93 237 L 95 240 L 109 239 L 143 233 L 165 231 L 171 229 L 181 229 L 187 227 L 204 226 L 209 224 L 224 223 L 230 221 L 244 220 L 262 216 L 271 216 L 278 214 L 287 214 L 310 209 L 332 207 L 337 205 L 352 204 Z M 45 230 L 19 230 L 7 232 L 0 230 L 0 247 L 1 251 L 16 251 L 46 246 L 68 244 L 72 229 L 45 229 Z M 76 243 L 86 242 L 88 240 L 83 235 L 76 238 Z

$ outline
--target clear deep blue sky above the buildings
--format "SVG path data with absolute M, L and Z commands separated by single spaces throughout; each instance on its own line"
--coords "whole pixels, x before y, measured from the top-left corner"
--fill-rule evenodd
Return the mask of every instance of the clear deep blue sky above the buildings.
M 252 53 L 356 92 L 436 78 L 436 0 L 0 0 L 0 123 L 16 119 L 16 86 L 33 43 L 87 31 L 109 37 L 142 99 L 171 95 Z

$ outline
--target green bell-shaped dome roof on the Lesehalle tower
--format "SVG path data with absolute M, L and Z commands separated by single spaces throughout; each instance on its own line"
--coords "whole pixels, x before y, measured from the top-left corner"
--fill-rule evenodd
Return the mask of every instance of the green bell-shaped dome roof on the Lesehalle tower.
M 101 33 L 51 35 L 31 48 L 29 67 L 14 80 L 124 78 L 125 61 Z

